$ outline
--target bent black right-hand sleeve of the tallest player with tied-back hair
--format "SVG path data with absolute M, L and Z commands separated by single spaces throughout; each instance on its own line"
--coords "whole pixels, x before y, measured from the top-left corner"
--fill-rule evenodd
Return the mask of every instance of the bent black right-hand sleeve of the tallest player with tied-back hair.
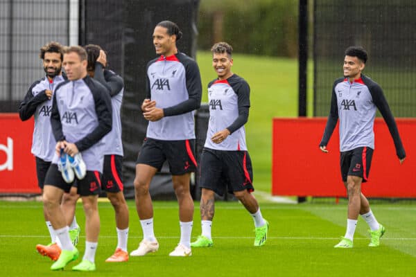
M 164 116 L 177 116 L 179 114 L 186 114 L 187 112 L 193 111 L 194 109 L 199 109 L 201 106 L 202 83 L 198 64 L 196 64 L 196 62 L 189 62 L 185 66 L 185 69 L 189 98 L 175 106 L 164 108 Z

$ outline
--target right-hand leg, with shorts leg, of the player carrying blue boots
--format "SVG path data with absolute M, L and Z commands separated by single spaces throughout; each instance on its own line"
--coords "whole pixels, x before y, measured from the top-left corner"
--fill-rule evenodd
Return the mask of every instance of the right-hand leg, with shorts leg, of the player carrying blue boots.
M 95 255 L 100 233 L 100 215 L 98 214 L 98 195 L 100 194 L 101 174 L 87 171 L 82 180 L 78 180 L 78 193 L 83 200 L 85 213 L 85 253 L 83 260 L 72 267 L 75 271 L 94 271 Z

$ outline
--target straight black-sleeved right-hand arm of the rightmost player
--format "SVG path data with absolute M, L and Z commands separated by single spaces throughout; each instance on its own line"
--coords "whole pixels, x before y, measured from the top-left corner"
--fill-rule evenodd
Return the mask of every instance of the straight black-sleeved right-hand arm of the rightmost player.
M 384 121 L 388 126 L 390 135 L 395 143 L 397 157 L 403 161 L 404 158 L 406 158 L 406 152 L 404 151 L 403 144 L 401 143 L 399 129 L 397 129 L 395 118 L 390 111 L 387 100 L 385 100 L 383 90 L 379 85 L 374 84 L 370 89 L 370 93 L 374 105 L 376 105 L 377 109 L 379 109 L 381 116 L 383 116 Z

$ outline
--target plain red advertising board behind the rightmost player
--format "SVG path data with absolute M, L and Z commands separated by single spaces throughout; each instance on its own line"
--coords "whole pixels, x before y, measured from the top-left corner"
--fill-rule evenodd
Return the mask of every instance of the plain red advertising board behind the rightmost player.
M 398 118 L 406 150 L 402 165 L 382 118 L 374 123 L 375 150 L 363 193 L 369 197 L 416 197 L 416 120 Z M 345 197 L 340 175 L 338 125 L 320 151 L 327 118 L 274 118 L 272 142 L 272 195 Z

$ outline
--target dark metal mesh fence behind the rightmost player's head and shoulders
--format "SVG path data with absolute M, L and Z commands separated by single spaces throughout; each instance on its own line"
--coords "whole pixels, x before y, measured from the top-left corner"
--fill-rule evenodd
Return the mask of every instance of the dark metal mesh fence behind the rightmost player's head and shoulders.
M 416 116 L 416 1 L 314 0 L 314 116 L 327 116 L 345 48 L 360 45 L 363 73 L 378 82 L 395 116 Z

